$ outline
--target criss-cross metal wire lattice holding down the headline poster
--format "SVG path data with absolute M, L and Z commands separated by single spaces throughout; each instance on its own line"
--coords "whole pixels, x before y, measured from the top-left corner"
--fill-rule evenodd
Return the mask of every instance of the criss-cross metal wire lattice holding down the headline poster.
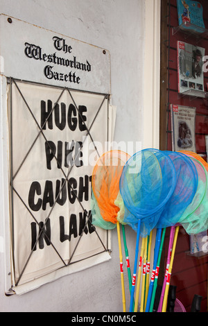
M 17 171 L 15 172 L 15 174 L 13 175 L 13 171 L 12 171 L 12 160 L 13 160 L 13 155 L 12 155 L 12 83 L 15 85 L 15 87 L 17 87 L 17 90 L 19 92 L 19 94 L 21 95 L 21 98 L 23 99 L 25 105 L 26 105 L 26 108 L 28 109 L 28 111 L 31 113 L 31 117 L 33 117 L 38 129 L 40 130 L 37 134 L 37 136 L 35 137 L 33 143 L 31 144 L 30 148 L 28 149 L 26 155 L 24 156 L 23 160 L 21 161 L 21 163 L 19 164 L 19 167 L 17 168 Z M 13 212 L 13 193 L 15 192 L 15 194 L 17 194 L 17 196 L 19 197 L 19 199 L 21 200 L 21 203 L 26 207 L 26 209 L 28 210 L 28 212 L 31 214 L 31 216 L 33 217 L 33 220 L 35 221 L 35 223 L 37 223 L 37 225 L 39 226 L 39 234 L 37 236 L 37 239 L 34 243 L 34 246 L 33 248 L 31 249 L 31 252 L 28 256 L 28 258 L 26 259 L 26 263 L 24 264 L 24 267 L 22 268 L 22 271 L 21 273 L 19 274 L 19 277 L 18 277 L 18 280 L 17 282 L 15 283 L 15 285 L 17 286 L 19 284 L 19 281 L 21 280 L 21 277 L 22 275 L 24 274 L 24 271 L 26 269 L 26 266 L 28 264 L 28 261 L 31 259 L 31 255 L 33 254 L 33 251 L 35 250 L 36 248 L 36 244 L 37 244 L 37 241 L 39 241 L 40 237 L 42 236 L 42 234 L 44 234 L 44 237 L 46 237 L 47 241 L 49 241 L 49 243 L 51 244 L 53 250 L 55 250 L 55 252 L 57 253 L 58 257 L 60 258 L 60 260 L 62 261 L 63 263 L 63 267 L 64 266 L 69 266 L 69 264 L 72 264 L 71 263 L 71 259 L 73 258 L 73 255 L 74 253 L 76 252 L 76 249 L 78 248 L 78 243 L 80 242 L 80 239 L 81 237 L 83 236 L 83 233 L 85 231 L 85 228 L 87 226 L 87 223 L 90 223 L 92 225 L 92 228 L 94 229 L 99 241 L 101 241 L 101 244 L 103 246 L 103 251 L 107 251 L 107 248 L 105 247 L 103 241 L 101 240 L 101 237 L 99 237 L 98 235 L 98 232 L 96 231 L 96 228 L 94 227 L 94 225 L 92 224 L 92 215 L 91 213 L 87 214 L 87 211 L 86 209 L 83 207 L 83 204 L 80 202 L 80 199 L 78 198 L 78 195 L 76 194 L 76 191 L 74 191 L 73 187 L 71 186 L 70 182 L 69 182 L 69 175 L 71 173 L 71 170 L 73 169 L 73 166 L 74 164 L 70 167 L 67 175 L 66 173 L 64 173 L 63 169 L 62 169 L 62 166 L 60 166 L 59 162 L 58 162 L 58 157 L 56 157 L 54 151 L 53 151 L 53 148 L 51 148 L 51 144 L 50 142 L 46 139 L 46 136 L 44 135 L 44 126 L 46 125 L 47 121 L 49 120 L 51 114 L 53 113 L 53 110 L 55 109 L 55 105 L 60 101 L 60 98 L 62 96 L 62 94 L 67 91 L 69 93 L 69 95 L 71 96 L 71 99 L 73 101 L 73 104 L 78 112 L 78 114 L 80 114 L 79 110 L 78 110 L 78 107 L 73 99 L 73 96 L 71 95 L 71 92 L 70 92 L 70 89 L 69 88 L 62 88 L 61 92 L 60 92 L 60 95 L 58 96 L 58 99 L 57 101 L 55 101 L 54 105 L 53 105 L 53 108 L 51 110 L 51 112 L 49 113 L 48 117 L 46 118 L 46 120 L 44 121 L 42 127 L 40 127 L 40 124 L 37 122 L 37 119 L 35 118 L 34 114 L 33 114 L 33 111 L 31 110 L 31 108 L 29 107 L 27 101 L 26 101 L 26 98 L 24 97 L 24 95 L 22 94 L 21 90 L 19 89 L 16 81 L 14 78 L 10 78 L 10 157 L 11 157 L 11 162 L 10 162 L 10 187 L 11 187 L 11 201 L 12 201 L 12 216 L 11 216 L 11 220 L 12 220 L 12 230 L 11 230 L 11 234 L 12 234 L 12 260 L 13 260 L 13 265 L 14 265 L 14 270 L 15 270 L 15 255 L 14 255 L 14 212 Z M 103 106 L 103 103 L 105 101 L 105 99 L 108 98 L 108 95 L 107 94 L 104 94 L 103 96 L 103 100 L 101 101 L 101 105 L 99 106 L 98 110 L 96 111 L 96 114 L 94 116 L 94 119 L 91 123 L 91 125 L 89 126 L 89 128 L 87 128 L 86 126 L 86 123 L 85 121 L 83 120 L 83 117 L 82 115 L 80 114 L 80 119 L 82 119 L 83 123 L 85 124 L 85 130 L 87 130 L 87 133 L 85 135 L 85 138 L 84 138 L 84 141 L 80 144 L 81 148 L 83 147 L 83 144 L 85 142 L 85 139 L 87 138 L 87 136 L 89 135 L 89 137 L 92 139 L 92 135 L 90 133 L 90 130 L 92 129 L 92 126 L 94 125 L 94 122 L 96 121 L 96 117 L 98 116 L 98 113 L 100 112 L 102 106 Z M 51 210 L 48 214 L 48 216 L 46 216 L 46 219 L 43 223 L 43 225 L 40 225 L 40 223 L 38 223 L 37 219 L 35 218 L 35 216 L 33 215 L 33 213 L 31 212 L 31 209 L 28 208 L 28 205 L 26 205 L 26 203 L 24 202 L 24 200 L 21 198 L 20 194 L 18 193 L 17 189 L 15 189 L 14 187 L 14 180 L 15 180 L 15 177 L 17 176 L 17 173 L 19 173 L 19 170 L 21 169 L 21 166 L 24 164 L 25 160 L 26 160 L 26 157 L 28 157 L 28 154 L 31 152 L 33 146 L 35 145 L 35 142 L 37 141 L 38 137 L 40 137 L 40 135 L 42 135 L 42 137 L 44 137 L 44 140 L 46 141 L 46 144 L 47 146 L 49 146 L 50 150 L 51 150 L 51 153 L 53 154 L 53 157 L 55 158 L 55 160 L 57 161 L 58 163 L 58 167 L 60 169 L 60 171 L 62 171 L 63 175 L 64 175 L 64 182 L 62 182 L 62 186 L 60 187 L 60 191 L 59 193 L 57 194 L 56 198 L 55 198 L 55 201 L 53 203 L 53 206 L 51 207 Z M 92 143 L 94 144 L 94 140 L 92 139 Z M 94 148 L 96 149 L 96 152 L 98 153 L 98 150 L 94 144 Z M 77 156 L 78 156 L 78 153 L 77 153 Z M 76 157 L 77 157 L 76 156 Z M 75 157 L 75 160 L 76 160 L 76 157 Z M 99 153 L 98 153 L 98 157 L 100 157 Z M 80 234 L 80 237 L 78 238 L 78 241 L 76 243 L 76 246 L 75 248 L 73 249 L 73 252 L 71 254 L 71 257 L 69 257 L 69 263 L 66 264 L 64 259 L 61 257 L 60 253 L 58 252 L 58 250 L 55 248 L 55 246 L 53 245 L 53 243 L 51 242 L 51 239 L 49 239 L 48 235 L 46 234 L 45 232 L 45 225 L 49 219 L 49 216 L 51 216 L 51 212 L 53 211 L 53 208 L 55 207 L 55 204 L 57 203 L 57 200 L 61 194 L 61 191 L 65 185 L 65 183 L 68 182 L 68 185 L 69 187 L 71 188 L 71 191 L 73 191 L 73 195 L 76 196 L 76 199 L 78 200 L 78 203 L 80 204 L 80 207 L 82 208 L 83 212 L 85 213 L 85 225 L 83 226 L 83 230 Z

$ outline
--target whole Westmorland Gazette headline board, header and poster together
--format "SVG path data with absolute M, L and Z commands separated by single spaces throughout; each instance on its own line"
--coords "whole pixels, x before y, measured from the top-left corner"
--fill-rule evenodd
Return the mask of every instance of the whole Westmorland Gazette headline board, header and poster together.
M 90 215 L 92 170 L 112 140 L 110 55 L 6 15 L 0 31 L 1 78 L 10 80 L 1 105 L 10 126 L 11 277 L 20 294 L 110 259 L 107 231 Z

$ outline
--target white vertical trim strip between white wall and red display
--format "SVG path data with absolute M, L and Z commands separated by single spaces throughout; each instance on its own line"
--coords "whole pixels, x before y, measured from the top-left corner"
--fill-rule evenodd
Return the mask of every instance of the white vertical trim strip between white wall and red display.
M 160 6 L 161 0 L 145 0 L 142 148 L 159 148 Z

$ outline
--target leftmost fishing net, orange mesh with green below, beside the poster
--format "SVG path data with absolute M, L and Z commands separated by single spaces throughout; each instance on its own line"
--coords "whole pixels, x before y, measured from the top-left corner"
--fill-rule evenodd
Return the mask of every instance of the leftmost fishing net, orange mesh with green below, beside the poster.
M 92 173 L 92 223 L 110 230 L 117 221 L 123 223 L 124 204 L 119 192 L 119 180 L 130 156 L 123 151 L 104 153 Z

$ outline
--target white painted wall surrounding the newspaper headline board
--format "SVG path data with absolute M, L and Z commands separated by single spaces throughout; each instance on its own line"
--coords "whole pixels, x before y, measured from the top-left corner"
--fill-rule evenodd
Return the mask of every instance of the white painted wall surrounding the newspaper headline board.
M 0 10 L 6 15 L 109 50 L 112 104 L 117 107 L 114 140 L 136 142 L 141 141 L 144 130 L 145 2 L 0 0 Z M 130 227 L 126 230 L 133 269 L 136 234 Z M 111 261 L 62 277 L 20 296 L 4 295 L 2 251 L 0 243 L 0 311 L 122 311 L 116 229 L 112 232 Z M 128 309 L 127 275 L 125 294 Z

